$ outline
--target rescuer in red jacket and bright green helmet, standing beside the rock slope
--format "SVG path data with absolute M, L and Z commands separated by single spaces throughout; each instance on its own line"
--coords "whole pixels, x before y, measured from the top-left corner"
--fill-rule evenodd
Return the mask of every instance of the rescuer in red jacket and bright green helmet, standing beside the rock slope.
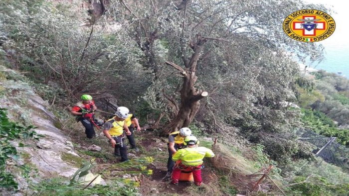
M 94 111 L 97 109 L 95 102 L 90 95 L 82 95 L 81 101 L 77 102 L 74 107 L 71 108 L 71 113 L 77 116 L 77 120 L 85 127 L 85 133 L 87 138 L 92 138 L 96 135 L 93 128 Z

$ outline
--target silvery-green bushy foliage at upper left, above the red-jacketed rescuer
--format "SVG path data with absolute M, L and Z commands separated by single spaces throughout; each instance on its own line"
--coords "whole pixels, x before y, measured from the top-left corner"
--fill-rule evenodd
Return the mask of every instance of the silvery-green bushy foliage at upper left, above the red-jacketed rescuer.
M 142 81 L 135 78 L 147 84 L 147 75 L 135 42 L 122 31 L 105 33 L 102 25 L 92 33 L 92 27 L 81 26 L 89 16 L 77 9 L 80 3 L 2 1 L 1 45 L 13 68 L 36 82 L 55 82 L 70 98 L 109 93 L 129 83 L 142 92 L 137 86 Z

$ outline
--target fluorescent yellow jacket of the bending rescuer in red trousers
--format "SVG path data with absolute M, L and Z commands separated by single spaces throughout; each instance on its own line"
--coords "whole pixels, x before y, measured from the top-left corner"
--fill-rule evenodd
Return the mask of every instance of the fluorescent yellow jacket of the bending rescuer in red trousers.
M 214 157 L 214 153 L 205 147 L 191 147 L 178 150 L 172 156 L 172 160 L 181 160 L 181 163 L 186 166 L 198 166 L 203 163 L 204 157 Z

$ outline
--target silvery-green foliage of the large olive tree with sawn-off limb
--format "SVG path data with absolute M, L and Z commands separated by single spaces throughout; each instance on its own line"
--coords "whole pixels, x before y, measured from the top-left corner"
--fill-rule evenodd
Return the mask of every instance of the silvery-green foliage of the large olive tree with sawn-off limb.
M 263 143 L 263 134 L 285 132 L 290 134 L 278 137 L 292 139 L 299 111 L 283 105 L 296 101 L 295 61 L 321 60 L 323 47 L 288 38 L 281 25 L 295 10 L 324 7 L 291 0 L 120 0 L 110 7 L 110 17 L 134 35 L 148 59 L 144 66 L 153 69 L 146 96 L 153 107 L 173 111 L 162 90 L 183 100 L 182 76 L 165 61 L 185 69 L 197 60 L 195 88 L 209 97 L 201 100 L 196 117 L 206 131 L 221 132 L 214 124 L 227 124 L 255 142 Z

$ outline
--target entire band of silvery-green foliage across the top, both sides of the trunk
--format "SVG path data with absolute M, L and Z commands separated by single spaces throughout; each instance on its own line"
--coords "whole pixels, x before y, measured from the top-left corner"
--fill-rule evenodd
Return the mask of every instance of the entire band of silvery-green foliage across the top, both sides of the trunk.
M 176 113 L 164 95 L 183 103 L 183 76 L 195 72 L 194 90 L 209 95 L 194 112 L 206 132 L 235 126 L 254 142 L 269 141 L 263 134 L 292 139 L 299 112 L 283 102 L 296 100 L 295 58 L 321 60 L 323 48 L 287 37 L 281 24 L 309 6 L 291 0 L 108 2 L 91 33 L 80 26 L 88 15 L 72 9 L 76 4 L 1 1 L 0 43 L 14 68 L 38 82 L 54 80 L 71 97 L 110 93 L 130 104 L 143 95 L 169 119 Z M 120 28 L 106 32 L 110 21 Z

